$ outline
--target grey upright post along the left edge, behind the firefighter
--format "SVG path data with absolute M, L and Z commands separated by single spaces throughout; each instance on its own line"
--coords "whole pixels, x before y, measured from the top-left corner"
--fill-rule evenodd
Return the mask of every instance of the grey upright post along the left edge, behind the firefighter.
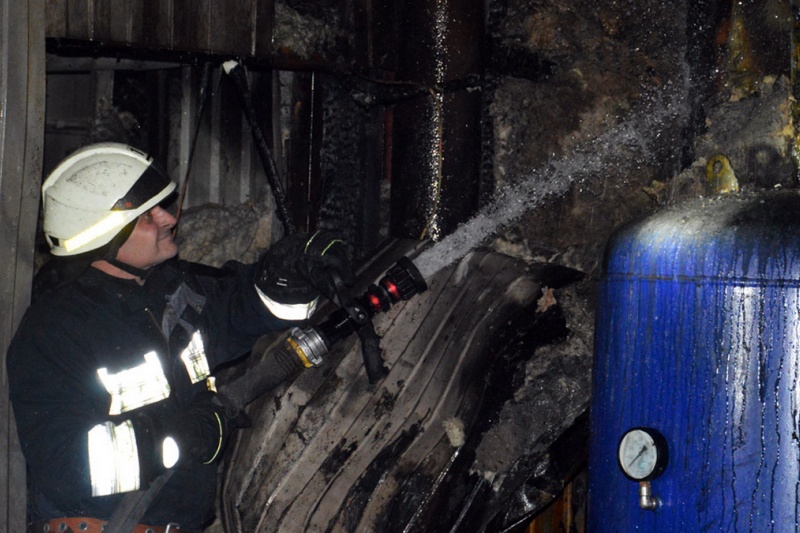
M 8 401 L 5 352 L 30 301 L 44 140 L 44 2 L 0 10 L 0 530 L 25 531 L 25 460 Z

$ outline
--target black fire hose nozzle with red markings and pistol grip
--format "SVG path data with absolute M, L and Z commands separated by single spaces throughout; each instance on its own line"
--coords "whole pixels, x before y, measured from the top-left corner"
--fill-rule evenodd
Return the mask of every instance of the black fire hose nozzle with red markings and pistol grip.
M 220 392 L 235 407 L 243 408 L 300 370 L 320 366 L 323 356 L 353 333 L 361 340 L 367 379 L 374 384 L 386 374 L 386 368 L 373 317 L 427 289 L 428 284 L 416 265 L 409 258 L 401 257 L 360 297 L 349 301 L 336 298 L 334 303 L 338 309 L 318 324 L 292 328 L 277 345 L 274 336 L 265 335 L 259 339 L 252 352 L 260 355 L 260 361 L 244 375 L 222 385 Z

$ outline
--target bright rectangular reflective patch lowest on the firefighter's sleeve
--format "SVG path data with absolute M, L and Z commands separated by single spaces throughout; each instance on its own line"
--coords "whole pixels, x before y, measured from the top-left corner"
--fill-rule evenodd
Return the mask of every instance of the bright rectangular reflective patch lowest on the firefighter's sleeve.
M 92 496 L 139 489 L 139 452 L 130 420 L 118 426 L 98 424 L 89 430 L 88 440 Z

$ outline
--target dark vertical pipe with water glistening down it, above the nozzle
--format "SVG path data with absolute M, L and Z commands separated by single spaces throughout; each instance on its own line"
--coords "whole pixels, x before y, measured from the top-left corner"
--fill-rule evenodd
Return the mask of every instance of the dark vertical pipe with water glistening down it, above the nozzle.
M 391 230 L 435 240 L 478 206 L 480 93 L 439 88 L 482 74 L 484 3 L 420 0 L 402 12 L 398 79 L 429 91 L 395 106 Z

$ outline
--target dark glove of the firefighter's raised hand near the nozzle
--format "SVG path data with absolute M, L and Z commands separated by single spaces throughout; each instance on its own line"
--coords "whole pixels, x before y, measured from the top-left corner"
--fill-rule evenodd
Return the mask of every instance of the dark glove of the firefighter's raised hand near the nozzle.
M 256 286 L 280 304 L 308 304 L 322 293 L 331 298 L 341 280 L 355 281 L 347 246 L 327 231 L 293 233 L 275 243 L 259 263 Z

